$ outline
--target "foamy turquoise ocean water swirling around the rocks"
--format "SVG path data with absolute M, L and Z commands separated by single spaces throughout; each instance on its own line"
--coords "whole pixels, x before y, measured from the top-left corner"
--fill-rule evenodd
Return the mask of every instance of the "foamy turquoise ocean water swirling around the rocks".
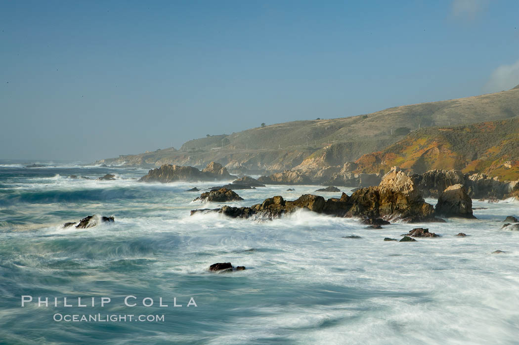
M 506 216 L 519 216 L 517 201 L 474 201 L 477 220 L 380 230 L 304 211 L 256 222 L 190 216 L 218 204 L 193 202 L 200 192 L 185 190 L 215 183 L 138 183 L 146 172 L 0 162 L 0 343 L 519 341 L 519 231 L 501 229 Z M 67 177 L 106 173 L 117 180 Z M 245 200 L 229 204 L 274 195 L 293 200 L 317 188 L 238 190 Z M 114 216 L 115 223 L 61 228 L 92 214 Z M 419 226 L 442 237 L 384 241 Z M 491 254 L 496 250 L 505 253 Z M 208 271 L 229 261 L 247 270 Z M 25 295 L 34 300 L 21 307 Z M 136 306 L 125 306 L 126 296 L 135 296 Z M 38 297 L 48 297 L 49 307 L 38 307 Z M 73 306 L 65 307 L 63 297 Z M 77 297 L 88 306 L 78 307 Z M 111 302 L 101 307 L 101 297 Z M 143 306 L 146 297 L 153 306 Z M 159 307 L 159 298 L 168 307 Z M 173 307 L 174 298 L 182 307 Z M 187 307 L 190 298 L 196 307 Z M 54 321 L 56 314 L 163 315 L 163 321 Z

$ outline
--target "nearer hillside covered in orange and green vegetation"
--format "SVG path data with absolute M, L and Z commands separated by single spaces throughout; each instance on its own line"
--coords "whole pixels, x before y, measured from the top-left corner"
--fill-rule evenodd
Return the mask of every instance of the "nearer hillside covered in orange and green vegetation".
M 389 171 L 394 165 L 424 173 L 456 169 L 500 180 L 519 178 L 519 118 L 415 131 L 382 151 L 363 155 L 357 172 Z

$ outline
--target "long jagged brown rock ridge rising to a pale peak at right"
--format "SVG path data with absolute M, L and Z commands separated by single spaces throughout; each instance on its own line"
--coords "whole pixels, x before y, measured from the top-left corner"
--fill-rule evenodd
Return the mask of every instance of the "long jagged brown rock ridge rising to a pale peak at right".
M 405 222 L 428 222 L 438 220 L 434 208 L 421 198 L 411 178 L 395 168 L 378 187 L 361 188 L 351 197 L 342 194 L 340 199 L 325 200 L 321 196 L 306 194 L 294 201 L 285 201 L 281 196 L 265 199 L 250 207 L 223 206 L 214 210 L 193 210 L 191 214 L 218 212 L 234 218 L 277 218 L 298 209 L 342 216 L 403 220 Z

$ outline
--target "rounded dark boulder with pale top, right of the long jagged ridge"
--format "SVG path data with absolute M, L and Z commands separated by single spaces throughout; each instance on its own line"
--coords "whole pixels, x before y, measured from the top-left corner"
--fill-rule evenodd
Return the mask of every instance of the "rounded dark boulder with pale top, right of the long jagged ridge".
M 447 187 L 438 198 L 436 214 L 445 217 L 475 218 L 472 214 L 472 199 L 465 187 L 461 184 Z

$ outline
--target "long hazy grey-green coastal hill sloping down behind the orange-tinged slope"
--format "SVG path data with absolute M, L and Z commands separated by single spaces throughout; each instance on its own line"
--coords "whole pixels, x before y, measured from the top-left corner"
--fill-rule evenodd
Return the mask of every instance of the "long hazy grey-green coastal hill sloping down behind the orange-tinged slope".
M 319 116 L 319 114 L 316 114 Z M 385 149 L 410 132 L 428 127 L 469 125 L 519 116 L 519 88 L 440 102 L 388 108 L 372 114 L 291 121 L 233 134 L 206 135 L 179 150 L 162 149 L 138 155 L 102 159 L 98 164 L 157 167 L 162 164 L 203 167 L 211 161 L 231 171 L 282 171 L 320 156 L 323 148 L 339 165 L 363 154 Z

